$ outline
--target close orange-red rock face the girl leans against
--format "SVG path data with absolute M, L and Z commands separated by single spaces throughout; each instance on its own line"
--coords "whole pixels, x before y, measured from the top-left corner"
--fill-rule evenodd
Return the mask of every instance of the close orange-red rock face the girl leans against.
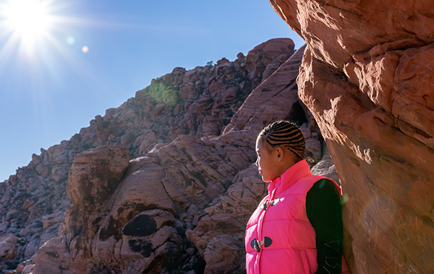
M 336 164 L 353 273 L 434 273 L 434 3 L 270 0 Z

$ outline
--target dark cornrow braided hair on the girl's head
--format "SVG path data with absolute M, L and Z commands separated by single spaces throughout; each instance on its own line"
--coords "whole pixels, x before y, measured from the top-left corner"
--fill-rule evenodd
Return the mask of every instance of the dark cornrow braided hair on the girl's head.
M 305 137 L 297 125 L 292 122 L 285 120 L 273 122 L 265 127 L 258 137 L 272 147 L 286 147 L 300 159 L 306 158 Z

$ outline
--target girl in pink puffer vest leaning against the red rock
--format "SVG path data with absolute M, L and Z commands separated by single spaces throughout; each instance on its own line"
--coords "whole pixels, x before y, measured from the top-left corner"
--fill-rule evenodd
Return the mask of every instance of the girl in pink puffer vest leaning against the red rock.
M 258 135 L 256 153 L 270 184 L 245 231 L 247 273 L 342 273 L 341 189 L 310 173 L 302 132 L 274 122 Z

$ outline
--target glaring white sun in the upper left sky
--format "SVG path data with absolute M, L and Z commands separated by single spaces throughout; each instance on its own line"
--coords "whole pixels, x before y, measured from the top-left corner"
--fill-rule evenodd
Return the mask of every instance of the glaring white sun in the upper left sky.
M 19 39 L 22 46 L 29 48 L 38 39 L 48 35 L 52 20 L 47 1 L 7 0 L 1 5 L 4 26 Z

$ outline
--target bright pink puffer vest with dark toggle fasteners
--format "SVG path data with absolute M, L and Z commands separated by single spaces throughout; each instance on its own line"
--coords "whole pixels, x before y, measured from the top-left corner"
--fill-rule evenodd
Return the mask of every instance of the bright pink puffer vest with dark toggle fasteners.
M 309 164 L 302 160 L 270 182 L 268 196 L 250 217 L 245 231 L 248 274 L 315 273 L 317 246 L 306 214 L 306 194 L 324 178 L 312 175 Z

